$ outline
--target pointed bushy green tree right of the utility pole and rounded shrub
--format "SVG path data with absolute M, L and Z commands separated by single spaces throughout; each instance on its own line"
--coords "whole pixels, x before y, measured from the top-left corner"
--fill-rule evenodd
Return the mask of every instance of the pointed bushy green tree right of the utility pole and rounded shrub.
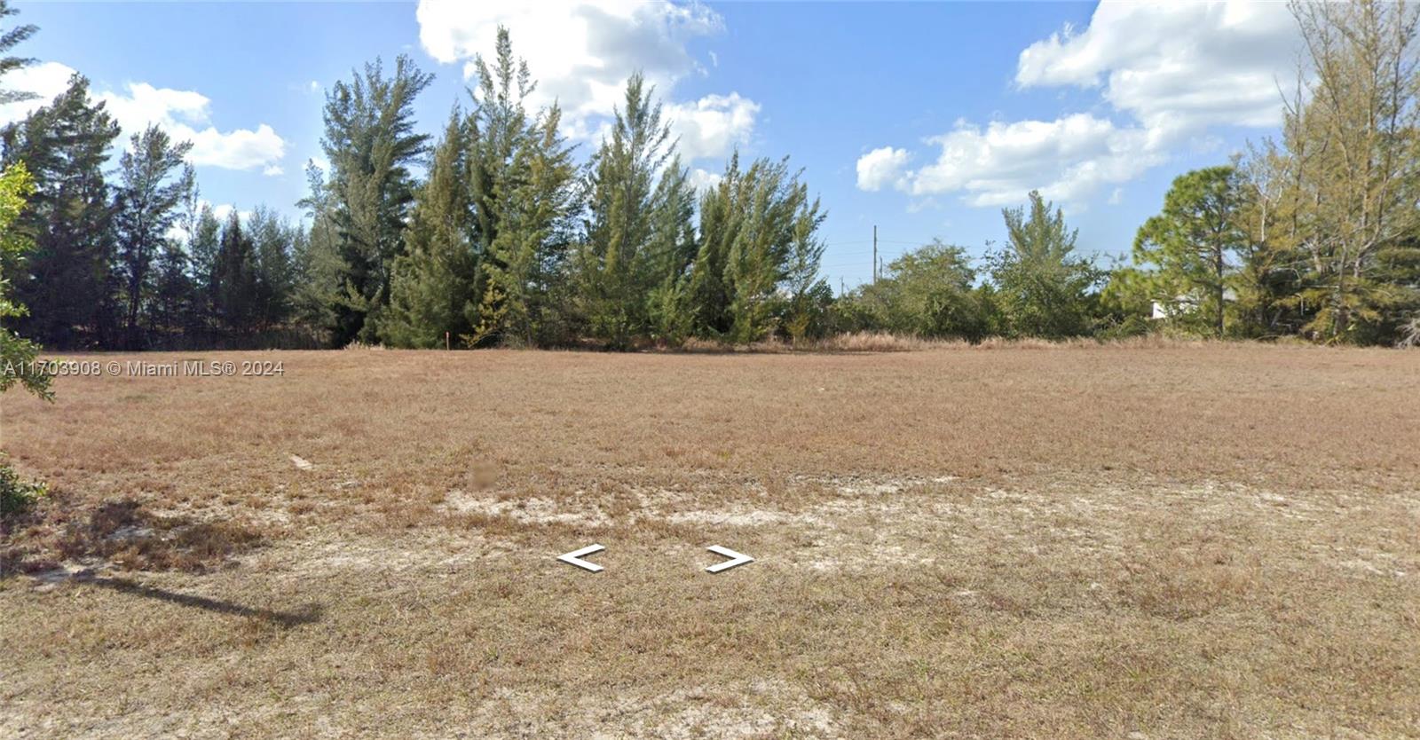
M 1008 243 L 987 261 L 1007 332 L 1051 339 L 1089 334 L 1089 291 L 1103 273 L 1075 254 L 1076 232 L 1065 227 L 1064 212 L 1032 190 L 1030 213 L 1015 207 L 1001 214 Z

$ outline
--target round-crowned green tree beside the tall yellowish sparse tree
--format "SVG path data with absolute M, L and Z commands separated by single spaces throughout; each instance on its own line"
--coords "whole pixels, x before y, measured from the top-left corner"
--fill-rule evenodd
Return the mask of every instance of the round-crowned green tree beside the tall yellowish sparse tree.
M 1187 297 L 1191 308 L 1177 318 L 1206 317 L 1216 337 L 1224 334 L 1228 283 L 1248 239 L 1242 203 L 1233 168 L 1196 169 L 1174 178 L 1163 212 L 1135 237 L 1135 263 L 1157 266 L 1152 298 L 1173 305 Z

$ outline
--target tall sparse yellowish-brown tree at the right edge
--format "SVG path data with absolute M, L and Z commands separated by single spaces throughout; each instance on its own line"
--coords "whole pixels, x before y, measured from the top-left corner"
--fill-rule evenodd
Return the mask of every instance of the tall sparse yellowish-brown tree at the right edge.
M 1394 341 L 1420 291 L 1396 283 L 1420 233 L 1420 9 L 1299 1 L 1304 89 L 1282 134 L 1306 257 L 1298 301 L 1306 331 L 1331 342 Z

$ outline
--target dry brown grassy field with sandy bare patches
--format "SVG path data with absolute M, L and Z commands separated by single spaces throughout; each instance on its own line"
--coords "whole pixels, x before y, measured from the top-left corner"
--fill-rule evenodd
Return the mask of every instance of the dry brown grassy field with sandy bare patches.
M 1420 736 L 1414 352 L 200 358 L 4 396 L 0 737 Z

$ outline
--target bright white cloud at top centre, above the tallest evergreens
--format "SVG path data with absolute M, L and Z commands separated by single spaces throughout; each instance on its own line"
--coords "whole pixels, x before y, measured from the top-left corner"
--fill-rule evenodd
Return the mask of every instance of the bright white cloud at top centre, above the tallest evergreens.
M 550 9 L 525 0 L 420 0 L 419 41 L 443 64 L 493 55 L 498 26 L 508 28 L 513 54 L 527 60 L 537 81 L 532 105 L 561 105 L 564 134 L 598 141 L 605 118 L 621 107 L 626 78 L 640 71 L 660 99 L 676 82 L 707 70 L 687 51 L 693 38 L 717 34 L 723 18 L 700 3 L 572 0 Z M 710 64 L 717 58 L 710 55 Z M 724 156 L 748 141 L 760 105 L 736 92 L 667 102 L 686 158 Z

